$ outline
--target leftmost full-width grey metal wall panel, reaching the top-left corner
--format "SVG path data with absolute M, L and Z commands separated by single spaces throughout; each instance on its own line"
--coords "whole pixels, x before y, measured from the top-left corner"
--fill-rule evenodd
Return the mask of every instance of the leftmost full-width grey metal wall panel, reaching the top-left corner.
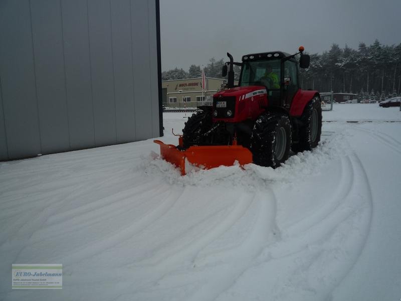
M 0 77 L 9 158 L 41 153 L 29 1 L 0 4 Z

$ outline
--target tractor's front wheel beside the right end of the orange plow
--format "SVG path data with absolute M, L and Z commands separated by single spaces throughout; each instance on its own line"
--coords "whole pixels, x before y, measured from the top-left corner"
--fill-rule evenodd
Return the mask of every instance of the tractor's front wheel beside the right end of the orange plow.
M 256 120 L 251 136 L 253 162 L 277 168 L 291 148 L 291 122 L 288 116 L 263 114 Z

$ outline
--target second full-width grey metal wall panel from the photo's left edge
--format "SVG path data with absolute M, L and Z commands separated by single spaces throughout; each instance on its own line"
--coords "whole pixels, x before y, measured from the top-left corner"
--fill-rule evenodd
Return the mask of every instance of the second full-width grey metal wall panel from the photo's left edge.
M 44 154 L 70 149 L 60 2 L 31 2 L 39 124 Z

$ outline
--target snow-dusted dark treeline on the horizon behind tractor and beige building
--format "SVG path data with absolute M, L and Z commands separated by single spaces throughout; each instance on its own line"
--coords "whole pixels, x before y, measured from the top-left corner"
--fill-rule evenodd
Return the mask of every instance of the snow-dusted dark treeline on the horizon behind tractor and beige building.
M 311 61 L 308 69 L 300 70 L 300 83 L 303 89 L 315 89 L 327 92 L 366 91 L 363 99 L 368 99 L 368 91 L 379 91 L 376 99 L 390 92 L 400 93 L 399 82 L 401 72 L 401 43 L 382 45 L 375 40 L 371 45 L 359 43 L 354 50 L 345 45 L 341 48 L 333 44 L 330 50 L 322 54 L 310 54 Z M 212 58 L 205 66 L 208 77 L 222 78 L 222 66 L 225 60 Z M 240 76 L 240 67 L 234 66 L 235 79 Z M 191 65 L 189 72 L 182 69 L 172 69 L 162 72 L 162 79 L 181 79 L 199 77 L 202 70 L 199 66 Z M 395 90 L 395 92 L 394 92 Z M 360 94 L 360 93 L 359 93 Z M 377 97 L 378 96 L 378 97 Z

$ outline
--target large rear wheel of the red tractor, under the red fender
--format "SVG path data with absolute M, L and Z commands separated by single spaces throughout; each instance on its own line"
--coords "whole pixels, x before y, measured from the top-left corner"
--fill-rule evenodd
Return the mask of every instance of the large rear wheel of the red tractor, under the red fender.
M 314 97 L 305 106 L 299 126 L 299 142 L 292 144 L 294 153 L 312 150 L 320 141 L 322 132 L 322 108 L 319 97 Z

